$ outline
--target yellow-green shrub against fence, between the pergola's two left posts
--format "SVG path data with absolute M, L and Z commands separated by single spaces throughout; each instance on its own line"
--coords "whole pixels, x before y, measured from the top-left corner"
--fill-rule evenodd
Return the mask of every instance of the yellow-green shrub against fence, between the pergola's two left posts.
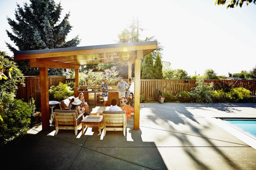
M 73 96 L 74 91 L 67 84 L 59 83 L 58 86 L 51 86 L 49 89 L 49 100 L 61 101 Z

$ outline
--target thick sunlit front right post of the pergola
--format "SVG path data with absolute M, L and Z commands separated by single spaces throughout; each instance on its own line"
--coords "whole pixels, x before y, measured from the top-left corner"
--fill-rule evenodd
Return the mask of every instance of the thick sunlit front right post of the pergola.
M 134 119 L 133 129 L 140 128 L 140 59 L 143 58 L 143 50 L 137 51 L 137 59 L 135 60 L 135 86 L 134 86 Z

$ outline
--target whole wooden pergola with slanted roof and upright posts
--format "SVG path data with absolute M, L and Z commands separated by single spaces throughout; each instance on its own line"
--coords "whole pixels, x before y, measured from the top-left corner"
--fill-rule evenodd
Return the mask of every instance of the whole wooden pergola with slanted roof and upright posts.
M 49 122 L 49 89 L 48 68 L 75 69 L 75 91 L 79 88 L 79 68 L 84 64 L 128 62 L 128 77 L 132 75 L 132 64 L 135 63 L 135 104 L 134 125 L 139 129 L 140 115 L 140 60 L 157 49 L 157 41 L 135 43 L 106 44 L 98 46 L 56 48 L 46 50 L 16 51 L 15 60 L 30 62 L 30 67 L 40 69 L 40 94 L 42 129 L 50 128 Z

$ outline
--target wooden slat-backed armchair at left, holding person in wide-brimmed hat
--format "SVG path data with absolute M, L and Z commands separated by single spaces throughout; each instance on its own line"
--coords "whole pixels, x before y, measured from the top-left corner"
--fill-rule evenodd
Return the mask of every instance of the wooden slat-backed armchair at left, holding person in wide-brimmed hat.
M 55 134 L 57 135 L 59 129 L 71 129 L 75 130 L 77 135 L 78 128 L 82 125 L 82 115 L 78 115 L 77 110 L 59 110 L 53 111 L 55 121 Z

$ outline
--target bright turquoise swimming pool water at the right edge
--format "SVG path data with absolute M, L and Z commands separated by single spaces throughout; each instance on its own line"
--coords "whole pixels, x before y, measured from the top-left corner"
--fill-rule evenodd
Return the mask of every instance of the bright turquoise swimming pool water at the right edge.
M 256 119 L 222 119 L 256 136 Z

